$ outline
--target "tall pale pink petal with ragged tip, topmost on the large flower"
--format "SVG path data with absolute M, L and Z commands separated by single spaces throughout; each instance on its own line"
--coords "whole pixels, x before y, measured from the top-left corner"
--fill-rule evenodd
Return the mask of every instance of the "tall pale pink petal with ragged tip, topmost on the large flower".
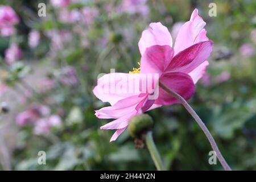
M 195 43 L 208 40 L 206 31 L 203 29 L 205 24 L 203 18 L 198 15 L 198 10 L 195 9 L 190 20 L 180 28 L 175 40 L 174 55 Z

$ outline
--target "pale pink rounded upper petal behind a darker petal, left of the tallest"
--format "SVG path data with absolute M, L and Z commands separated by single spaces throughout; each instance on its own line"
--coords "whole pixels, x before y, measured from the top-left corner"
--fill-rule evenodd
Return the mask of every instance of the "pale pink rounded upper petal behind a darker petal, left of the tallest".
M 168 28 L 162 23 L 150 23 L 150 28 L 142 32 L 142 37 L 139 40 L 139 51 L 143 56 L 148 47 L 151 46 L 170 46 L 172 47 L 172 37 Z

